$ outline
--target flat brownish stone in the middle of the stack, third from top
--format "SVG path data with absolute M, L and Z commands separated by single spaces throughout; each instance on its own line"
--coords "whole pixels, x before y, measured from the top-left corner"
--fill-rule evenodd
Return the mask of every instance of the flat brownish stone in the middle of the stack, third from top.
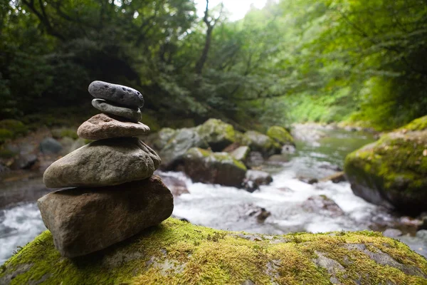
M 131 123 L 115 120 L 106 114 L 94 115 L 78 127 L 80 138 L 88 140 L 104 140 L 106 138 L 137 137 L 149 132 L 143 123 Z

